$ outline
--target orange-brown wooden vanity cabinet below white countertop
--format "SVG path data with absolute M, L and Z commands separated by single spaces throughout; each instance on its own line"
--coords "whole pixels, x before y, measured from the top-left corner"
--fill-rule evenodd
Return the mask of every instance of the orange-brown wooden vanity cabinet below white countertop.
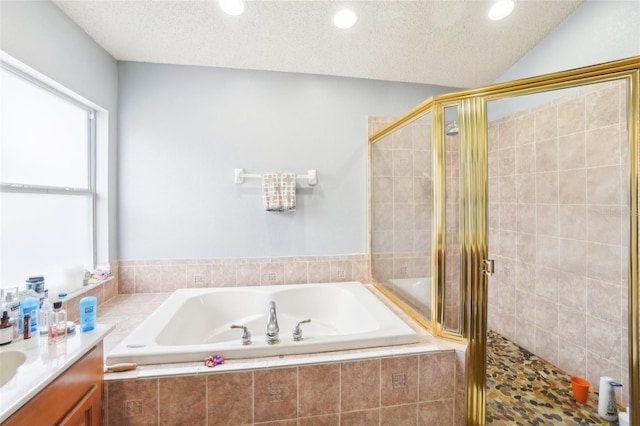
M 100 342 L 9 417 L 4 425 L 100 425 L 103 379 Z

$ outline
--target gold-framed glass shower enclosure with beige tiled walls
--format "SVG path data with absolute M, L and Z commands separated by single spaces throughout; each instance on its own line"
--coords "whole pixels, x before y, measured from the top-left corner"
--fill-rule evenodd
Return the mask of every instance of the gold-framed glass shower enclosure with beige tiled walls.
M 468 424 L 496 418 L 489 331 L 640 412 L 639 70 L 430 98 L 370 138 L 372 279 L 467 344 Z

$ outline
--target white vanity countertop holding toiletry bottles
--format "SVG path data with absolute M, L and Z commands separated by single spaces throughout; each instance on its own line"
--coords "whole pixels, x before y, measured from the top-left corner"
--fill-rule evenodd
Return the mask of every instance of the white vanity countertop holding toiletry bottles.
M 98 324 L 92 331 L 76 331 L 64 341 L 53 345 L 48 344 L 46 335 L 41 337 L 33 333 L 30 339 L 0 346 L 0 352 L 17 351 L 27 357 L 16 374 L 0 387 L 0 423 L 46 388 L 114 328 L 115 325 L 112 324 Z M 0 365 L 0 369 L 2 368 Z

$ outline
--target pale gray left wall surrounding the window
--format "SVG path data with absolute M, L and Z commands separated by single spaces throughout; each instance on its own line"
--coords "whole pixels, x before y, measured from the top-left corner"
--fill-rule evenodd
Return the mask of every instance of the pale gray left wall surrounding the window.
M 100 226 L 108 228 L 108 260 L 117 260 L 116 60 L 50 1 L 1 1 L 0 49 L 108 112 L 108 200 L 100 202 L 108 202 L 109 214 Z

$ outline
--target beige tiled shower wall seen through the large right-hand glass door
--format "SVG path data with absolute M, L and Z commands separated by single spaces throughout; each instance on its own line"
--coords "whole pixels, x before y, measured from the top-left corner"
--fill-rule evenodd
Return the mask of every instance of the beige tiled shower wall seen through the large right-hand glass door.
M 596 386 L 627 385 L 627 140 L 618 82 L 489 125 L 489 328 Z

